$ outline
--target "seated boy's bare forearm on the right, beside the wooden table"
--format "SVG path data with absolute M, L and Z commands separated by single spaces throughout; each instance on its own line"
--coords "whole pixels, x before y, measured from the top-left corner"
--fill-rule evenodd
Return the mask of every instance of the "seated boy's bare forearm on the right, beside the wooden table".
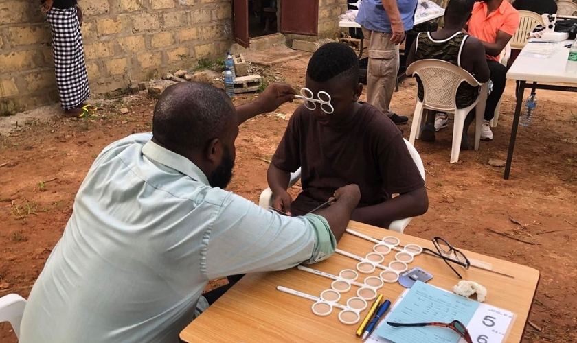
M 427 209 L 429 209 L 429 196 L 427 196 L 427 190 L 423 186 L 381 202 L 381 204 L 355 209 L 350 219 L 370 225 L 383 226 L 383 224 L 394 220 L 422 215 L 427 212 Z

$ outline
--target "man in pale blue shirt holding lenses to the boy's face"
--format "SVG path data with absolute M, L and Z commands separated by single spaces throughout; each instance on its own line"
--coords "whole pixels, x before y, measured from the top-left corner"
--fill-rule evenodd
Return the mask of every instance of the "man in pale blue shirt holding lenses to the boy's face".
M 294 94 L 273 84 L 235 109 L 207 84 L 168 87 L 152 134 L 116 141 L 94 161 L 32 288 L 20 342 L 179 342 L 208 306 L 210 279 L 328 258 L 361 197 L 357 185 L 303 217 L 223 190 L 238 125 Z

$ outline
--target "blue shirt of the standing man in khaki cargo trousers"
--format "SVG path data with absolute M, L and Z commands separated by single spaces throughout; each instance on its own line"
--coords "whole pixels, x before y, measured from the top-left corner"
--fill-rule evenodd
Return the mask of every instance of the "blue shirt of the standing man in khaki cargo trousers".
M 415 23 L 415 10 L 418 0 L 397 0 L 400 19 L 403 21 L 405 31 L 413 29 Z M 392 33 L 391 21 L 381 0 L 363 0 L 359 13 L 357 14 L 357 23 L 365 29 L 376 32 Z

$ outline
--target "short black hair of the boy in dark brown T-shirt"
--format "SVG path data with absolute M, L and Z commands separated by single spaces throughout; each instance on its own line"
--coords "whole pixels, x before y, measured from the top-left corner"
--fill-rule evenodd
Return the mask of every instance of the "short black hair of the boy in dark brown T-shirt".
M 315 82 L 326 82 L 333 78 L 355 86 L 359 83 L 359 58 L 353 49 L 341 43 L 321 46 L 308 62 L 306 75 Z

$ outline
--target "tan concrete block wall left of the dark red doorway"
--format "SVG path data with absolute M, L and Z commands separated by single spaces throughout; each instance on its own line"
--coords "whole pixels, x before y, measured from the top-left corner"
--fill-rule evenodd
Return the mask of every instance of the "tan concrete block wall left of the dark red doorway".
M 58 100 L 39 1 L 0 0 L 0 115 Z M 80 0 L 91 91 L 102 94 L 223 55 L 230 0 Z

